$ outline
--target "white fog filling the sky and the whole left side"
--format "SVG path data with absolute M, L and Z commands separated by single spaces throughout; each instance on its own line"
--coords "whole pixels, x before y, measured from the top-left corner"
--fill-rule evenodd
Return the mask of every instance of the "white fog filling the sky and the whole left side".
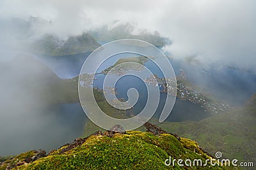
M 40 143 L 52 148 L 51 141 L 57 141 L 57 147 L 83 131 L 83 126 L 74 132 L 74 124 L 69 122 L 67 127 L 68 122 L 58 121 L 60 108 L 44 108 L 38 88 L 41 81 L 56 75 L 35 62 L 28 51 L 35 39 L 44 34 L 67 39 L 103 25 L 111 29 L 129 23 L 134 25 L 132 34 L 157 31 L 169 38 L 172 43 L 163 50 L 174 59 L 195 56 L 205 68 L 221 64 L 256 72 L 255 8 L 253 0 L 0 1 L 0 155 L 41 148 Z M 31 16 L 38 22 L 28 22 Z M 28 82 L 39 85 L 30 87 Z M 82 110 L 77 112 L 77 118 L 70 121 L 84 118 Z M 67 134 L 72 136 L 67 138 Z

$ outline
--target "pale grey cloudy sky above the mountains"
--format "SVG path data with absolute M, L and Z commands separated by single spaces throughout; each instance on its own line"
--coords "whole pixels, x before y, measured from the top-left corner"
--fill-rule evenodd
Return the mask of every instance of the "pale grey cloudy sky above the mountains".
M 200 54 L 201 60 L 227 60 L 253 67 L 256 61 L 256 1 L 33 1 L 4 0 L 0 18 L 30 15 L 51 20 L 41 32 L 79 34 L 114 20 L 158 31 L 173 41 L 174 57 Z

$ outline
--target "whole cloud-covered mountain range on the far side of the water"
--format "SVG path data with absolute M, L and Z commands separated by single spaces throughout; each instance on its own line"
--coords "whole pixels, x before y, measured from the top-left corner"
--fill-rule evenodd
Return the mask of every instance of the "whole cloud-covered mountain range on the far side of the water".
M 159 32 L 138 30 L 135 25 L 115 22 L 79 34 L 61 34 L 52 31 L 54 23 L 40 17 L 29 17 L 28 20 L 12 18 L 0 20 L 1 46 L 15 50 L 37 53 L 41 55 L 71 55 L 92 52 L 100 46 L 98 41 L 113 41 L 116 39 L 141 39 L 156 46 L 170 44 L 170 39 L 164 38 Z

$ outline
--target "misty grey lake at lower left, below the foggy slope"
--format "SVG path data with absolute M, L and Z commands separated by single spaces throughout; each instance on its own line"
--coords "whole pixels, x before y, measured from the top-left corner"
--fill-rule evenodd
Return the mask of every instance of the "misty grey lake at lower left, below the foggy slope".
M 80 103 L 10 108 L 8 111 L 1 113 L 1 156 L 37 149 L 49 152 L 79 138 L 86 122 Z

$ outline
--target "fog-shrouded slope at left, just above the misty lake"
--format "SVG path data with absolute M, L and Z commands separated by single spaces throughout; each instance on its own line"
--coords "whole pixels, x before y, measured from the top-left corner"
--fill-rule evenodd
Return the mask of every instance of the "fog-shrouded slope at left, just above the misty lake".
M 40 104 L 75 103 L 78 102 L 77 80 L 61 80 L 49 67 L 29 55 L 20 55 L 5 67 L 0 73 L 2 83 L 1 96 L 20 101 L 40 101 Z M 3 103 L 1 103 L 3 104 Z

